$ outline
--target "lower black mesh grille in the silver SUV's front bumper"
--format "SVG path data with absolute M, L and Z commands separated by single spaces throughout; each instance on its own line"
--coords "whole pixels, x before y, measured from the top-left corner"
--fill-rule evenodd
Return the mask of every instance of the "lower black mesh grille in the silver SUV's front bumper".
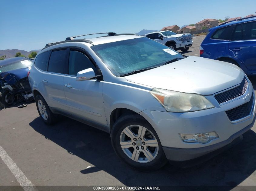
M 226 114 L 228 116 L 228 119 L 230 121 L 236 121 L 238 119 L 242 119 L 246 116 L 251 115 L 251 110 L 253 107 L 254 103 L 254 96 L 251 96 L 250 101 L 247 103 L 244 103 L 241 106 L 235 107 L 234 109 L 226 111 Z

